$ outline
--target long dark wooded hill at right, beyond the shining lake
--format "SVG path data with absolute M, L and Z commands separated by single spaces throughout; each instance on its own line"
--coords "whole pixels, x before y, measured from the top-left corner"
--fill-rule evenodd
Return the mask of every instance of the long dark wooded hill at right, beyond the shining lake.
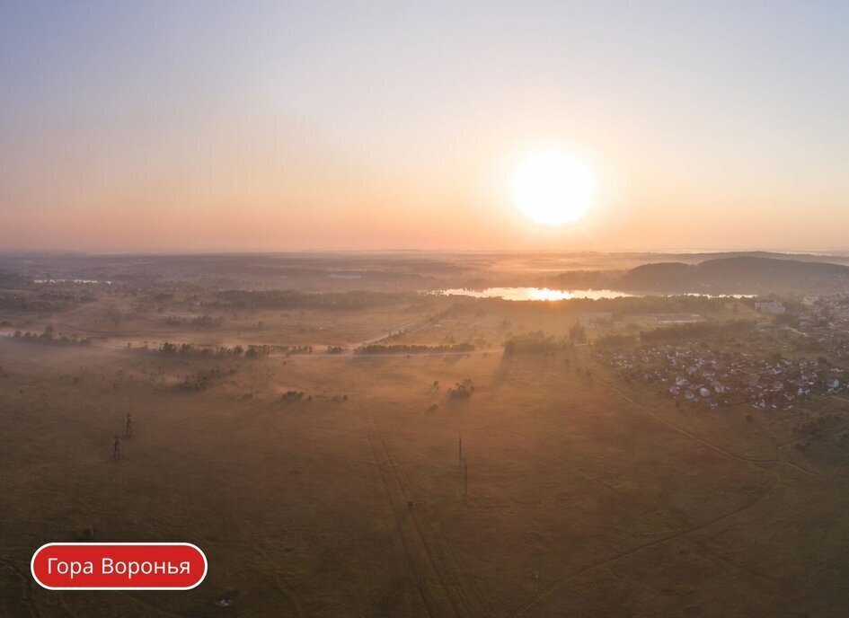
M 705 260 L 692 265 L 661 262 L 628 270 L 619 286 L 624 290 L 667 293 L 825 293 L 849 291 L 849 267 L 752 256 Z

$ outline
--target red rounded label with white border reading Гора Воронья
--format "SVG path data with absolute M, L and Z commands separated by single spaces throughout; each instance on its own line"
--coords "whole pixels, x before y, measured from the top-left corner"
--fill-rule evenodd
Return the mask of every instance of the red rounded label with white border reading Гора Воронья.
M 191 543 L 47 543 L 30 569 L 49 590 L 190 590 L 207 557 Z

